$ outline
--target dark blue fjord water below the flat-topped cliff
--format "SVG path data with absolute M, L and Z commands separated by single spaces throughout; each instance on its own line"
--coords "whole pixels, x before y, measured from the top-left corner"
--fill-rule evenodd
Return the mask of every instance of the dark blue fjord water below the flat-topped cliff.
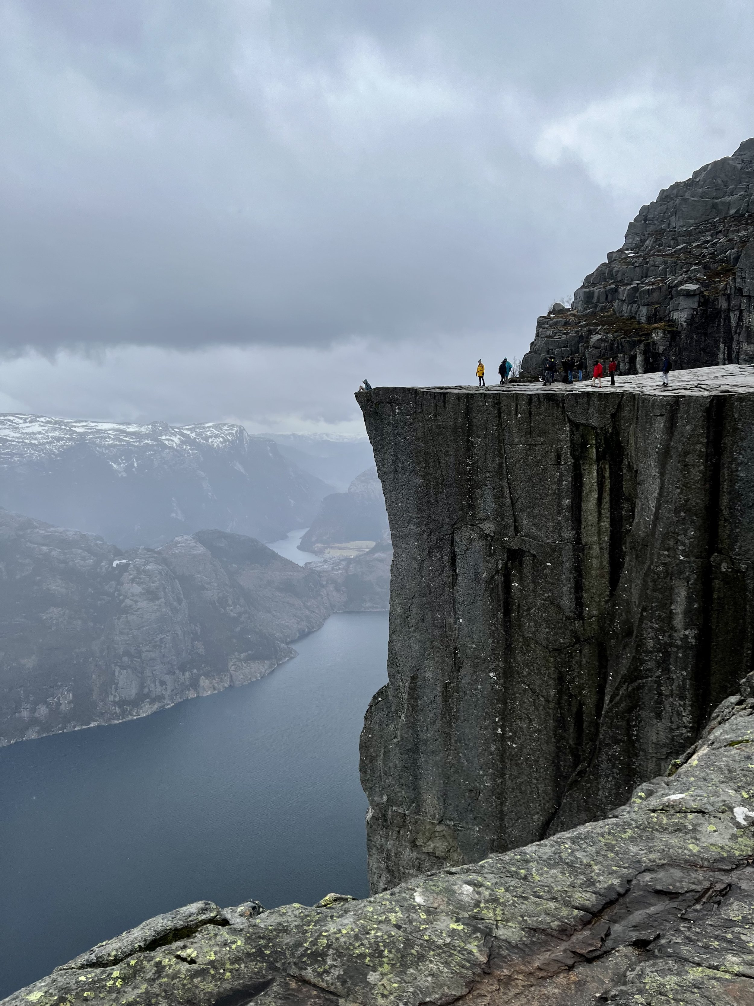
M 358 739 L 387 615 L 335 615 L 268 677 L 0 748 L 0 997 L 150 915 L 367 893 Z

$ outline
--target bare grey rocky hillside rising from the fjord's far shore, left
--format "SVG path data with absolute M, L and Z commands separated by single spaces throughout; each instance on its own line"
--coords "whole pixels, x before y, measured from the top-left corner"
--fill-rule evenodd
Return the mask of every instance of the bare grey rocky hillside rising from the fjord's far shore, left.
M 0 743 L 252 681 L 332 611 L 317 572 L 253 538 L 123 552 L 0 510 Z

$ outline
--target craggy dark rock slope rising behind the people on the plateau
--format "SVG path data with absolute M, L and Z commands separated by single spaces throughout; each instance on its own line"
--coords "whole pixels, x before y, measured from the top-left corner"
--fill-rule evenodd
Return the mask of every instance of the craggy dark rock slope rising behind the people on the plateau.
M 621 373 L 754 361 L 754 139 L 664 189 L 623 246 L 587 276 L 573 306 L 537 322 L 522 373 L 577 355 Z

